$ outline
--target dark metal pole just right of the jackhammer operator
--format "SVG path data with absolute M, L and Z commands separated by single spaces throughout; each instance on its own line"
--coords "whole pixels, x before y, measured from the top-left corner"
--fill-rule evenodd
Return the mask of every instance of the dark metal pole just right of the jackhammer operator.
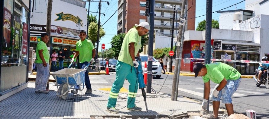
M 149 12 L 150 30 L 148 36 L 148 60 L 147 61 L 147 93 L 151 93 L 151 78 L 152 78 L 152 61 L 153 61 L 153 37 L 154 37 L 154 3 L 155 0 L 146 1 L 146 14 Z M 147 6 L 149 11 L 147 11 Z

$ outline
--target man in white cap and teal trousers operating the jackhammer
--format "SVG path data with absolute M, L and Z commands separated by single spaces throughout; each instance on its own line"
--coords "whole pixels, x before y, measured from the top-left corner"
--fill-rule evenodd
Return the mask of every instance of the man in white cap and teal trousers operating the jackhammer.
M 139 65 L 139 63 L 135 60 L 135 57 L 140 56 L 139 49 L 142 47 L 141 36 L 147 34 L 150 26 L 147 22 L 141 22 L 139 25 L 135 24 L 135 26 L 136 28 L 131 28 L 126 34 L 118 56 L 118 62 L 116 64 L 116 80 L 112 85 L 106 109 L 106 111 L 111 113 L 119 113 L 119 111 L 115 108 L 115 105 L 119 91 L 123 87 L 125 78 L 130 83 L 127 109 L 131 111 L 142 110 L 142 108 L 137 107 L 134 104 L 138 90 L 137 74 L 135 73 L 134 68 L 137 68 Z

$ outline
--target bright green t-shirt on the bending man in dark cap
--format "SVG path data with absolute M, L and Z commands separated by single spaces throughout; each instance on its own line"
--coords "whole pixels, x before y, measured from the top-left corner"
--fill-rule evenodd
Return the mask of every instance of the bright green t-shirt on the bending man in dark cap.
M 207 74 L 203 76 L 204 83 L 208 82 L 209 79 L 212 82 L 219 84 L 223 78 L 226 80 L 237 80 L 241 77 L 241 74 L 232 66 L 221 62 L 214 62 L 206 64 Z

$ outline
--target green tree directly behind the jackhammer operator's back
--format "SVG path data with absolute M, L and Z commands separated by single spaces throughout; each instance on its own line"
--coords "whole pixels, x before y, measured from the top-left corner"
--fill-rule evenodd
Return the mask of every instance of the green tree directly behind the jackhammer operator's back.
M 115 58 L 118 58 L 118 55 L 120 54 L 121 48 L 122 48 L 122 42 L 123 39 L 125 37 L 125 33 L 120 33 L 117 34 L 115 36 L 113 36 L 113 38 L 111 39 L 111 50 L 114 52 L 113 55 L 115 56 Z

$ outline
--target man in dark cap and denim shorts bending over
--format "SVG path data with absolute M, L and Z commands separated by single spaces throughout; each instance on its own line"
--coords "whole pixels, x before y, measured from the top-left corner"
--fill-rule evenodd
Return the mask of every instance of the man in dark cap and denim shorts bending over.
M 203 76 L 203 81 L 205 83 L 204 89 L 204 99 L 202 103 L 202 110 L 206 111 L 207 102 L 209 100 L 210 93 L 210 81 L 217 83 L 211 98 L 213 101 L 213 114 L 203 115 L 203 117 L 208 119 L 218 119 L 219 104 L 222 98 L 222 103 L 225 104 L 228 116 L 234 114 L 234 108 L 232 105 L 232 95 L 237 90 L 241 82 L 241 74 L 232 66 L 224 64 L 221 62 L 214 62 L 211 64 L 197 63 L 193 66 L 193 71 L 195 73 L 195 78 Z

